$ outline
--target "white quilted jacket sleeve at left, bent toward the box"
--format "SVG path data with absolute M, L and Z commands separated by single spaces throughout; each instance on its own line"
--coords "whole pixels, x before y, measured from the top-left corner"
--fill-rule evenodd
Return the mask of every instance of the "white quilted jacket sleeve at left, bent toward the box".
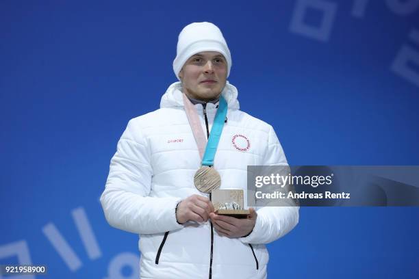
M 164 233 L 183 228 L 176 221 L 180 198 L 150 197 L 152 168 L 147 140 L 130 120 L 110 163 L 101 204 L 107 222 L 130 233 Z

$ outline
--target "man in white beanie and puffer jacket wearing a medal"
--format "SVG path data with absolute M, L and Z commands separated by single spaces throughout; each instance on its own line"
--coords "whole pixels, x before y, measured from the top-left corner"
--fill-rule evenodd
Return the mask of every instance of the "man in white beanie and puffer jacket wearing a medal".
M 212 129 L 222 129 L 207 168 L 218 172 L 220 189 L 246 192 L 247 165 L 287 164 L 272 127 L 239 110 L 230 68 L 220 29 L 187 25 L 173 62 L 180 81 L 160 109 L 130 120 L 120 137 L 101 204 L 111 226 L 140 235 L 141 278 L 266 278 L 264 244 L 298 223 L 299 207 L 251 208 L 246 219 L 218 215 L 210 194 L 194 185 L 207 156 L 200 129 L 210 142 Z

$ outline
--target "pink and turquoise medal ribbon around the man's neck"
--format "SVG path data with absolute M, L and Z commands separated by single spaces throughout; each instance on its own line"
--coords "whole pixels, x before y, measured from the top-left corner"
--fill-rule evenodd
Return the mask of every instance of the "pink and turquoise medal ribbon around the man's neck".
M 208 142 L 202 129 L 201 122 L 199 121 L 198 113 L 185 94 L 183 94 L 183 105 L 185 106 L 186 116 L 188 116 L 188 121 L 198 146 L 199 155 L 202 158 L 202 165 L 210 167 L 214 165 L 214 157 L 217 151 L 218 142 L 220 142 L 221 133 L 223 132 L 225 117 L 227 116 L 227 102 L 223 96 L 220 96 L 217 113 L 214 118 L 214 124 L 212 124 Z

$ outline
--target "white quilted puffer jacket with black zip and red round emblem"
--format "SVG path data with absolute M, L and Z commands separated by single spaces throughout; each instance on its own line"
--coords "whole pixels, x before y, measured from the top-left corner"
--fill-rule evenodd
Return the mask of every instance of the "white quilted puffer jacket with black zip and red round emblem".
M 211 232 L 210 221 L 178 224 L 177 203 L 192 194 L 205 196 L 193 183 L 201 159 L 181 94 L 181 83 L 173 83 L 160 109 L 129 121 L 101 196 L 106 220 L 140 235 L 141 278 L 266 278 L 264 244 L 296 226 L 299 207 L 257 208 L 251 235 L 236 239 Z M 287 162 L 275 131 L 239 110 L 238 92 L 228 81 L 222 94 L 228 104 L 227 122 L 214 168 L 220 173 L 221 189 L 246 192 L 247 165 Z M 206 131 L 203 105 L 194 106 Z M 207 103 L 206 111 L 211 131 L 216 105 Z

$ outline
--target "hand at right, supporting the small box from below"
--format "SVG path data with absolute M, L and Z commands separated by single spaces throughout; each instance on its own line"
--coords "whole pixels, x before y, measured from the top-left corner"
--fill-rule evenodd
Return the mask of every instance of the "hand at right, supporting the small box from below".
M 211 222 L 219 235 L 225 237 L 244 237 L 249 235 L 256 224 L 257 213 L 252 207 L 246 219 L 210 213 Z

